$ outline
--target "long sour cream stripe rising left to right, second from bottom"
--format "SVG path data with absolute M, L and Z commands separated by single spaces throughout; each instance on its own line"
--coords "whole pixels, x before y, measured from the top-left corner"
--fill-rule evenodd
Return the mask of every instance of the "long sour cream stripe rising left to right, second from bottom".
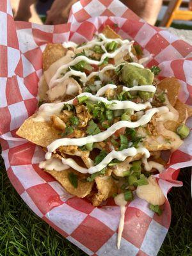
M 96 135 L 90 135 L 84 138 L 62 138 L 62 139 L 55 140 L 47 147 L 47 150 L 49 153 L 51 153 L 51 152 L 54 152 L 56 148 L 61 146 L 68 146 L 68 145 L 83 146 L 83 145 L 86 145 L 87 143 L 104 141 L 122 127 L 136 128 L 136 127 L 139 127 L 140 125 L 147 124 L 148 122 L 150 122 L 152 116 L 157 112 L 158 112 L 157 108 L 148 109 L 145 115 L 141 116 L 140 120 L 136 122 L 119 121 L 111 125 L 111 127 L 109 127 L 106 131 L 100 132 L 99 134 L 96 134 Z M 48 154 L 46 154 L 45 158 L 49 159 Z

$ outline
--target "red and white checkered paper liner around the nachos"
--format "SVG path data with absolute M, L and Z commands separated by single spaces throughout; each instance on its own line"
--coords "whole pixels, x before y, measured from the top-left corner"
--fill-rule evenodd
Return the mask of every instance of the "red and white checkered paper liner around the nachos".
M 166 200 L 163 215 L 135 198 L 125 213 L 120 250 L 116 237 L 120 209 L 113 200 L 93 207 L 86 199 L 68 195 L 56 180 L 38 168 L 44 152 L 15 131 L 37 106 L 37 84 L 42 75 L 42 51 L 48 42 L 76 43 L 91 40 L 109 24 L 123 38 L 132 38 L 153 54 L 148 63 L 159 65 L 160 78 L 175 76 L 182 84 L 180 100 L 191 105 L 192 47 L 167 31 L 140 20 L 117 0 L 81 0 L 72 6 L 68 24 L 44 26 L 14 22 L 9 1 L 0 1 L 0 132 L 3 158 L 13 186 L 40 218 L 88 255 L 157 255 L 171 220 Z M 188 125 L 192 125 L 188 122 Z M 170 157 L 166 171 L 157 177 L 166 196 L 172 186 L 181 186 L 179 168 L 191 166 L 192 133 Z

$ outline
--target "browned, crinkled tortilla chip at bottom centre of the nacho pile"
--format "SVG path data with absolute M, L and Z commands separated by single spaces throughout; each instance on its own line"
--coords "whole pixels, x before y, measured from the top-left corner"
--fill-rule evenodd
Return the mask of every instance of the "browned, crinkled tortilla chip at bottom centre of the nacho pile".
M 94 206 L 99 206 L 100 203 L 106 200 L 111 191 L 115 191 L 115 182 L 112 177 L 95 177 L 95 182 L 97 184 L 98 192 L 92 197 L 92 204 Z

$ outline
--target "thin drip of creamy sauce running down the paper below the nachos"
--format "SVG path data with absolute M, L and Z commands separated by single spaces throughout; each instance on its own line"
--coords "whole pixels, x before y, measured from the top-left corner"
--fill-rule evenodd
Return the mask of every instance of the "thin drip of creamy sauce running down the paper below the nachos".
M 117 248 L 120 248 L 120 243 L 122 239 L 122 233 L 124 230 L 124 221 L 125 221 L 125 211 L 126 207 L 125 205 L 127 204 L 127 201 L 125 201 L 124 194 L 121 193 L 114 198 L 115 204 L 120 206 L 120 221 L 118 225 L 118 237 L 117 237 Z

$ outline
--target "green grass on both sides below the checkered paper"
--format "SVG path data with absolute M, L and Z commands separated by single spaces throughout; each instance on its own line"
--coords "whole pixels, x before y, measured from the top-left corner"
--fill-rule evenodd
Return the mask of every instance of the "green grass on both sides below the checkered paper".
M 86 255 L 38 218 L 22 201 L 0 159 L 0 255 L 1 256 L 80 256 Z M 190 170 L 179 175 L 184 187 L 173 188 L 172 225 L 158 256 L 192 255 L 192 205 Z

